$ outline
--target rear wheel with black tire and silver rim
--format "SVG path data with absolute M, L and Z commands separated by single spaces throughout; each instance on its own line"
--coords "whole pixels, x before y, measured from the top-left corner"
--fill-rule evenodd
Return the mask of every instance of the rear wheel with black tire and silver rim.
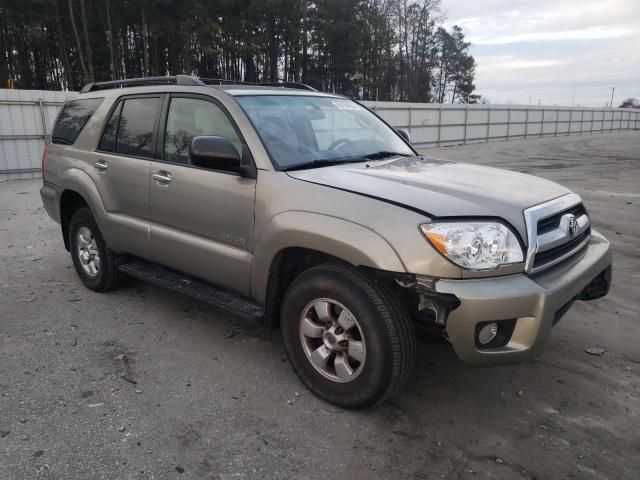
M 84 286 L 96 292 L 108 292 L 116 288 L 118 269 L 115 256 L 107 247 L 88 208 L 80 208 L 73 214 L 68 235 L 73 266 Z M 87 261 L 88 258 L 93 263 Z

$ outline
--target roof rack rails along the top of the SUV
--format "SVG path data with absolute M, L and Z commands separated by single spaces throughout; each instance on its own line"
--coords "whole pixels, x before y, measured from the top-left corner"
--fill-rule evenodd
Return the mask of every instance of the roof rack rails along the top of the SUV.
M 80 93 L 95 92 L 97 90 L 108 90 L 111 88 L 125 87 L 145 87 L 153 85 L 250 85 L 255 87 L 280 87 L 280 88 L 297 88 L 301 90 L 317 90 L 309 85 L 300 82 L 241 82 L 238 80 L 226 80 L 223 78 L 197 78 L 189 75 L 175 75 L 166 77 L 142 77 L 142 78 L 125 78 L 124 80 L 109 80 L 107 82 L 93 82 L 86 84 Z

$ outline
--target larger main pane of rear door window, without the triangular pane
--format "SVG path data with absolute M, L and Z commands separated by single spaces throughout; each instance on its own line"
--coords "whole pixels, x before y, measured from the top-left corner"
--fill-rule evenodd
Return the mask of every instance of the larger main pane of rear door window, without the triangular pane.
M 117 153 L 153 156 L 153 131 L 159 106 L 159 98 L 131 98 L 124 101 L 116 133 Z

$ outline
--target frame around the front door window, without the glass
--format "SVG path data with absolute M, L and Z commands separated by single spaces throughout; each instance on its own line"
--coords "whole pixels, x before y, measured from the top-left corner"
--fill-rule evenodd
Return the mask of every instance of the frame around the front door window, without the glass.
M 178 162 L 170 162 L 168 160 L 164 159 L 164 142 L 165 142 L 165 138 L 166 138 L 166 134 L 167 134 L 167 122 L 169 120 L 169 107 L 171 106 L 171 100 L 174 98 L 193 98 L 196 100 L 201 100 L 201 101 L 205 101 L 205 102 L 209 102 L 212 103 L 213 105 L 215 105 L 216 107 L 218 107 L 220 109 L 220 111 L 222 112 L 222 114 L 227 117 L 227 120 L 229 121 L 229 123 L 231 124 L 231 127 L 234 129 L 234 131 L 236 132 L 236 135 L 238 135 L 238 139 L 240 140 L 240 143 L 242 144 L 242 161 L 245 162 L 249 162 L 250 164 L 253 164 L 255 167 L 255 162 L 253 160 L 253 155 L 251 154 L 251 151 L 249 150 L 249 145 L 247 144 L 247 141 L 244 138 L 244 135 L 242 135 L 242 131 L 240 130 L 240 128 L 238 127 L 238 124 L 236 123 L 236 121 L 234 120 L 233 116 L 229 113 L 229 110 L 227 110 L 227 108 L 222 104 L 222 102 L 220 102 L 218 99 L 211 97 L 209 95 L 202 95 L 202 94 L 198 94 L 198 93 L 168 93 L 166 94 L 163 102 L 162 102 L 162 108 L 160 109 L 160 125 L 158 127 L 158 138 L 156 141 L 156 151 L 155 151 L 155 155 L 153 158 L 153 161 L 156 163 L 164 163 L 166 165 L 175 165 L 178 167 L 186 167 L 186 168 L 195 168 L 197 170 L 204 170 L 205 172 L 216 172 L 216 173 L 224 173 L 226 175 L 233 175 L 236 177 L 239 177 L 240 174 L 238 172 L 233 172 L 231 170 L 214 170 L 212 168 L 204 168 L 204 167 L 198 167 L 196 165 L 192 165 L 190 163 L 178 163 Z

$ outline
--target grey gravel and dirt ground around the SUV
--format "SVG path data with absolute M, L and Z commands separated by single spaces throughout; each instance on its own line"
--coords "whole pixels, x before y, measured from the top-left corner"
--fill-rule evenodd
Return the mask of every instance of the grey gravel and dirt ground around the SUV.
M 530 364 L 469 368 L 421 335 L 406 388 L 363 412 L 305 390 L 279 332 L 133 280 L 83 288 L 40 181 L 0 183 L 0 478 L 640 478 L 640 132 L 427 153 L 574 189 L 614 284 Z

